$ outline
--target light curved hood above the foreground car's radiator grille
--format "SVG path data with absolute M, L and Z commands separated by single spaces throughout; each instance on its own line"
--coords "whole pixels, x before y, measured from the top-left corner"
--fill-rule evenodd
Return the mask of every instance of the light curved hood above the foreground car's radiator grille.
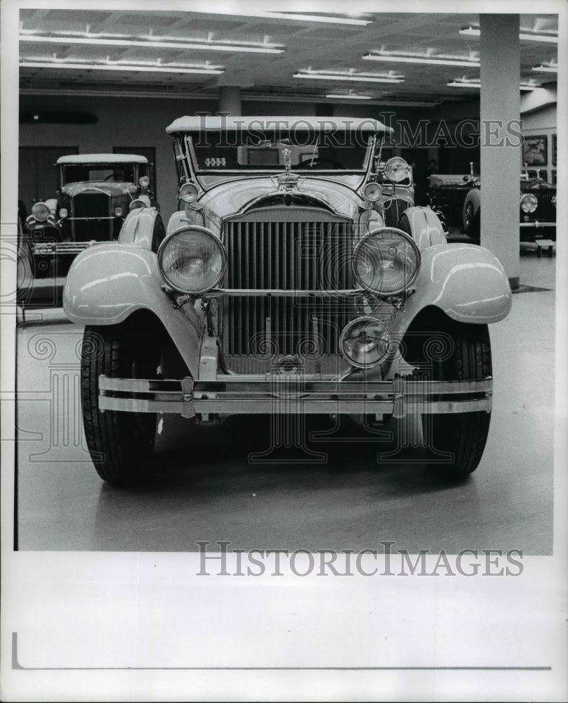
M 341 183 L 300 176 L 296 188 L 282 191 L 278 188 L 277 176 L 272 176 L 221 183 L 203 195 L 198 207 L 202 208 L 206 221 L 220 221 L 256 207 L 281 205 L 286 195 L 291 196 L 288 200 L 294 205 L 319 205 L 348 219 L 355 219 L 364 204 L 352 188 Z

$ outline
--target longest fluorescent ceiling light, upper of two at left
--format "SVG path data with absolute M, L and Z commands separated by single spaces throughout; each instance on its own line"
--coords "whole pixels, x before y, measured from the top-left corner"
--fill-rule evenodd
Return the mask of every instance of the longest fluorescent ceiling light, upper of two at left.
M 261 44 L 209 44 L 208 42 L 194 41 L 154 41 L 154 39 L 111 39 L 110 37 L 55 37 L 41 36 L 38 34 L 20 34 L 20 41 L 36 41 L 40 44 L 95 44 L 99 46 L 143 46 L 150 49 L 180 49 L 191 51 L 232 51 L 246 53 L 284 53 L 284 49 L 276 46 L 262 46 Z

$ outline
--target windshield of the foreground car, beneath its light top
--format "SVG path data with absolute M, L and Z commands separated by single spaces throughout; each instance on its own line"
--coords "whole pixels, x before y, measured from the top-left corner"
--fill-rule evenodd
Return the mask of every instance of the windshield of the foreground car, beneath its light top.
M 187 134 L 178 143 L 178 158 L 189 153 L 198 172 L 279 171 L 289 164 L 292 171 L 363 171 L 366 168 L 368 134 L 348 131 L 333 134 L 318 131 L 207 131 Z

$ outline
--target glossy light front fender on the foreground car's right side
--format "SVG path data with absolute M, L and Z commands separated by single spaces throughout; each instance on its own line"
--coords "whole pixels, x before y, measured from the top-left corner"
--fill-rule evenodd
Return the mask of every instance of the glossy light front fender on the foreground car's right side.
M 416 292 L 399 311 L 404 331 L 421 309 L 440 308 L 458 322 L 489 324 L 508 315 L 512 295 L 501 262 L 489 250 L 470 244 L 443 244 L 422 252 Z

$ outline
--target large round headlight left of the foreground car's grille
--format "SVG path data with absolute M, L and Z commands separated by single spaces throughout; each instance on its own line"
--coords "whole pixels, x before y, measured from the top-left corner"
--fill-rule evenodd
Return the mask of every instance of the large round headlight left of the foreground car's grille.
M 223 278 L 227 254 L 212 232 L 194 225 L 164 239 L 158 265 L 173 290 L 198 295 L 215 288 Z

